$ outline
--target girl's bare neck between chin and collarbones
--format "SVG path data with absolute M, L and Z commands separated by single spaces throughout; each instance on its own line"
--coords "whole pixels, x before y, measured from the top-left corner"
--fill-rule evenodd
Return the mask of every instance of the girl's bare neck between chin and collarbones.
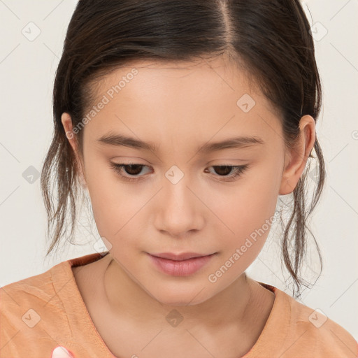
M 146 292 L 112 257 L 108 257 L 108 266 L 103 273 L 106 301 L 115 317 L 131 317 L 138 324 L 150 322 L 151 326 L 158 324 L 159 327 L 165 322 L 163 317 L 172 310 L 177 310 L 187 324 L 195 326 L 217 328 L 232 323 L 242 329 L 250 327 L 250 308 L 257 302 L 255 283 L 243 273 L 229 287 L 202 303 L 169 306 Z

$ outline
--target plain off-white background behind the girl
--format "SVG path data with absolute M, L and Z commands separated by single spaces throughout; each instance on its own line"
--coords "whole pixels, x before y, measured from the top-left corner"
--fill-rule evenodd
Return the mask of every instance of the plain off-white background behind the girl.
M 1 286 L 96 252 L 99 234 L 83 215 L 76 234 L 80 245 L 68 243 L 57 257 L 44 259 L 46 216 L 40 180 L 35 176 L 31 183 L 24 178 L 29 171 L 41 171 L 50 145 L 52 84 L 75 6 L 73 0 L 0 0 Z M 313 26 L 322 78 L 317 137 L 326 160 L 327 184 L 310 221 L 324 271 L 299 301 L 322 310 L 357 340 L 358 1 L 312 0 L 303 2 L 303 7 Z M 275 234 L 273 227 L 247 272 L 255 280 L 285 289 L 287 273 L 282 275 L 280 269 Z M 310 245 L 309 251 L 315 252 Z M 317 265 L 313 262 L 310 269 L 317 271 Z M 306 279 L 313 283 L 313 278 L 307 271 Z M 286 292 L 290 294 L 289 289 Z

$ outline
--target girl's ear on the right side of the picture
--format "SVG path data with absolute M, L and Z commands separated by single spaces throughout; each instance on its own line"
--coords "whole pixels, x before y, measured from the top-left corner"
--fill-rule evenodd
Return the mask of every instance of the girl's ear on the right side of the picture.
M 307 159 L 315 145 L 315 120 L 304 115 L 299 122 L 300 137 L 294 149 L 287 150 L 282 171 L 280 195 L 293 192 L 306 167 Z

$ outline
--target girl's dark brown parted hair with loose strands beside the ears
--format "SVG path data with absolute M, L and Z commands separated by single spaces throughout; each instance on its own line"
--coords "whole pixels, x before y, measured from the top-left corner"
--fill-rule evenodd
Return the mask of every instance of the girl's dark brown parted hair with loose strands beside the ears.
M 255 79 L 278 109 L 285 145 L 294 148 L 299 120 L 321 108 L 321 83 L 315 62 L 310 25 L 299 0 L 80 0 L 71 17 L 53 90 L 55 131 L 41 172 L 41 190 L 51 237 L 47 255 L 67 230 L 71 234 L 81 192 L 78 163 L 61 122 L 69 113 L 76 127 L 94 100 L 97 81 L 113 69 L 136 60 L 191 61 L 229 54 Z M 75 136 L 83 155 L 83 131 Z M 317 136 L 298 184 L 292 193 L 289 220 L 282 233 L 282 256 L 299 297 L 306 255 L 308 216 L 324 187 L 324 159 Z M 310 206 L 306 180 L 315 159 L 317 185 Z M 57 203 L 52 202 L 55 190 Z M 280 222 L 283 228 L 282 216 Z M 50 234 L 53 229 L 53 234 Z M 312 235 L 313 236 L 313 235 Z M 313 236 L 320 257 L 320 249 Z M 46 256 L 47 256 L 46 255 Z

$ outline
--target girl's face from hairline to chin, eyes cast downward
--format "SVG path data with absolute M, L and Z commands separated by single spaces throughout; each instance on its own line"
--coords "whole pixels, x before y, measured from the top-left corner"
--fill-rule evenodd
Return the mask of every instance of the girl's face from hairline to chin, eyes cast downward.
M 262 249 L 278 195 L 296 185 L 282 176 L 278 114 L 252 87 L 223 59 L 136 62 L 96 87 L 80 129 L 94 219 L 118 269 L 162 303 L 193 305 L 229 287 Z M 164 264 L 169 273 L 149 255 L 164 252 L 215 255 Z

